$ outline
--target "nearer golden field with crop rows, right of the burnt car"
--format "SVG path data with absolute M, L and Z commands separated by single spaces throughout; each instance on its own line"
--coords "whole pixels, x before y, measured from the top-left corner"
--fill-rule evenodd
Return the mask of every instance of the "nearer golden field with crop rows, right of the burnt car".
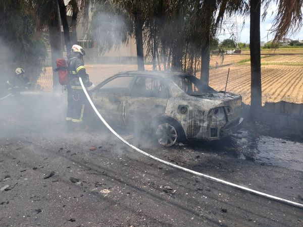
M 230 68 L 227 91 L 242 95 L 243 102 L 250 103 L 250 66 L 248 64 L 222 67 L 210 72 L 210 86 L 224 90 Z M 303 67 L 264 65 L 262 73 L 262 102 L 281 100 L 303 103 Z

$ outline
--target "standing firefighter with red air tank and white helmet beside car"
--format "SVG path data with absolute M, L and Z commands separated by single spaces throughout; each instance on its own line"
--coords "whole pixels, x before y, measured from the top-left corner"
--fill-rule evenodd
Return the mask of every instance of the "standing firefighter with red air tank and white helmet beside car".
M 67 55 L 67 68 L 69 72 L 69 84 L 67 85 L 67 116 L 66 121 L 69 130 L 84 129 L 83 117 L 85 108 L 87 108 L 87 99 L 82 90 L 79 77 L 81 77 L 84 86 L 90 87 L 92 83 L 86 74 L 83 56 L 84 49 L 79 45 L 73 45 L 71 52 Z M 85 106 L 86 105 L 86 106 Z

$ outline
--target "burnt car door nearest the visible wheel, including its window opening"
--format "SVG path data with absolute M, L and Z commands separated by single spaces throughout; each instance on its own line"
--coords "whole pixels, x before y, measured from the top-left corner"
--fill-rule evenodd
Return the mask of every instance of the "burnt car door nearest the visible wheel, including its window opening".
M 137 76 L 130 96 L 125 97 L 122 121 L 130 129 L 148 129 L 165 112 L 169 90 L 162 78 Z

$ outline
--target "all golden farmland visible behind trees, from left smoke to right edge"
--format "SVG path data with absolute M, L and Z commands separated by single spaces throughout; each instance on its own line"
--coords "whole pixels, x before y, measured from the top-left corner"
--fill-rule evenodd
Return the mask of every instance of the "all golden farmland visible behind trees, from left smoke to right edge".
M 224 90 L 228 68 L 230 68 L 227 91 L 239 93 L 243 102 L 250 103 L 250 63 L 237 64 L 247 60 L 247 55 L 224 55 L 223 65 L 233 65 L 214 68 L 210 71 L 210 86 L 216 90 Z M 303 103 L 303 55 L 272 55 L 262 58 L 262 92 L 265 102 L 281 100 Z M 221 65 L 220 56 L 213 55 L 211 66 Z M 137 65 L 86 65 L 87 73 L 94 84 L 121 71 L 137 70 Z M 145 65 L 145 70 L 151 70 L 151 65 Z M 52 90 L 52 69 L 45 68 L 37 83 L 41 90 Z M 196 75 L 199 77 L 199 73 Z

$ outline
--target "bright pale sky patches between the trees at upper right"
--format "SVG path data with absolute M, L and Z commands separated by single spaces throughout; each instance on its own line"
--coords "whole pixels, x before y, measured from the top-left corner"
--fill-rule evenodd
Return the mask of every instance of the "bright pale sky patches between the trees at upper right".
M 260 24 L 260 33 L 261 33 L 261 41 L 268 42 L 273 39 L 273 35 L 269 34 L 269 30 L 272 27 L 272 22 L 275 17 L 275 12 L 277 10 L 277 5 L 272 4 L 268 9 L 268 14 L 265 18 L 265 21 L 261 21 Z M 263 13 L 264 9 L 261 9 L 261 14 Z M 274 12 L 272 14 L 272 12 Z M 244 26 L 243 26 L 244 22 Z M 239 41 L 244 43 L 249 43 L 249 16 L 242 17 L 237 16 L 237 24 L 238 24 L 238 34 L 239 34 Z M 241 30 L 242 28 L 242 30 Z M 219 35 L 219 40 L 222 41 L 223 39 L 229 38 L 230 34 Z M 294 40 L 303 40 L 303 27 L 294 35 L 289 35 L 290 39 Z

